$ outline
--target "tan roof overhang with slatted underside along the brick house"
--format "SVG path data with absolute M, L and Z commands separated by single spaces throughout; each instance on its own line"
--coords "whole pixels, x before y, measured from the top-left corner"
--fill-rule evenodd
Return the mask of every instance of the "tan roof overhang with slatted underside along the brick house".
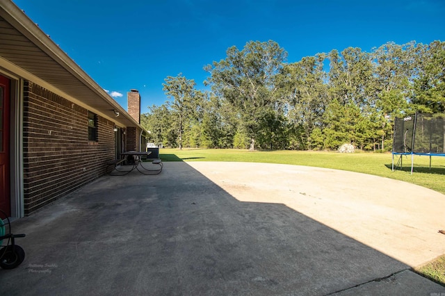
M 140 125 L 74 63 L 14 3 L 0 3 L 0 57 L 22 77 L 102 115 L 119 126 Z M 36 81 L 37 80 L 37 81 Z M 113 110 L 118 110 L 115 117 Z

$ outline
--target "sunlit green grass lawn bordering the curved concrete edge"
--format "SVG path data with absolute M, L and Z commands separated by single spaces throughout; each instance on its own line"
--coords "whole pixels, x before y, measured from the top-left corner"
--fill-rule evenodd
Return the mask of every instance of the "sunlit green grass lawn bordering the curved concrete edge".
M 411 156 L 403 156 L 403 166 L 393 172 L 391 170 L 392 156 L 389 153 L 340 154 L 318 151 L 251 152 L 241 149 L 161 149 L 159 154 L 162 161 L 239 161 L 326 167 L 384 176 L 445 194 L 445 157 L 439 156 L 431 158 L 431 168 L 428 156 L 414 156 L 414 174 L 410 174 Z M 399 156 L 395 156 L 395 165 L 399 160 Z M 415 271 L 445 286 L 445 256 Z

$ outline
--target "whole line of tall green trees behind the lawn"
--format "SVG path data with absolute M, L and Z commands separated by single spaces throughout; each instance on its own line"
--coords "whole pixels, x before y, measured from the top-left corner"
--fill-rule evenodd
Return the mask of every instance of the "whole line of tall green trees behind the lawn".
M 445 109 L 445 42 L 348 47 L 287 63 L 277 42 L 250 41 L 193 79 L 168 76 L 168 101 L 141 124 L 168 147 L 390 150 L 395 117 Z

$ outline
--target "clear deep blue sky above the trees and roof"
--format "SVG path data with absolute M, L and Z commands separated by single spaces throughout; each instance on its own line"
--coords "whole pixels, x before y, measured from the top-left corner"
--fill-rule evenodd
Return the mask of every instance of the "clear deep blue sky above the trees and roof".
M 250 40 L 274 40 L 288 63 L 332 49 L 445 40 L 443 0 L 13 1 L 122 107 L 139 90 L 143 113 L 167 100 L 167 76 L 182 73 L 204 89 L 204 65 Z

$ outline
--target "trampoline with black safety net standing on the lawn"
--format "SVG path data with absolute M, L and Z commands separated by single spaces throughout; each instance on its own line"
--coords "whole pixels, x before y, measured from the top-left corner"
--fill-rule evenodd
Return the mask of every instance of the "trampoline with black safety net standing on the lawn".
M 445 118 L 444 114 L 416 113 L 403 118 L 396 117 L 394 122 L 394 141 L 392 145 L 392 170 L 394 156 L 400 156 L 395 167 L 402 167 L 403 156 L 411 156 L 411 174 L 414 168 L 414 155 L 445 156 Z

